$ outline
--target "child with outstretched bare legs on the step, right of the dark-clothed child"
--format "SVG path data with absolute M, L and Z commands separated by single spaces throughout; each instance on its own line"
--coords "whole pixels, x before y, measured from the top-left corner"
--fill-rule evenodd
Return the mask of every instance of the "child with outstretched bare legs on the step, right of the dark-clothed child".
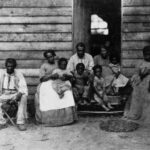
M 106 91 L 105 91 L 105 81 L 102 77 L 102 67 L 100 65 L 95 65 L 93 67 L 94 72 L 94 100 L 99 103 L 106 111 L 109 111 L 112 106 L 109 103 Z

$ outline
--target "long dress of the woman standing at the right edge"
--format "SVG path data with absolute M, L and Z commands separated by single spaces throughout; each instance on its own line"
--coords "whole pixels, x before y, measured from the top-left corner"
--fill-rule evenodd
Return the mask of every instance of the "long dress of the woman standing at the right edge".
M 143 79 L 139 74 L 148 73 Z M 124 116 L 142 124 L 150 124 L 150 62 L 138 65 L 137 73 L 132 77 L 133 92 L 126 104 Z M 145 74 L 144 73 L 144 74 Z

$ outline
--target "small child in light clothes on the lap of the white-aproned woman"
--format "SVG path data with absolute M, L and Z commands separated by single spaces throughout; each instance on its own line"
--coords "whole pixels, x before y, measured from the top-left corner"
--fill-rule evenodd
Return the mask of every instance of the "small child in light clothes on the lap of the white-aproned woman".
M 58 79 L 53 81 L 53 89 L 58 93 L 59 97 L 64 96 L 64 92 L 71 90 L 71 83 L 69 79 L 72 77 L 71 73 L 66 70 L 67 59 L 60 58 L 58 60 L 58 69 L 55 69 L 52 74 L 58 74 Z

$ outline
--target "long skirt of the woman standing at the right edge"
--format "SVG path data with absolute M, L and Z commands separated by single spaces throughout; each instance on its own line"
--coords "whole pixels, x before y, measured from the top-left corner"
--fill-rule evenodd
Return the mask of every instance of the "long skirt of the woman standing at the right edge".
M 133 87 L 133 92 L 128 100 L 124 116 L 140 124 L 150 124 L 150 75 L 145 77 L 138 85 Z

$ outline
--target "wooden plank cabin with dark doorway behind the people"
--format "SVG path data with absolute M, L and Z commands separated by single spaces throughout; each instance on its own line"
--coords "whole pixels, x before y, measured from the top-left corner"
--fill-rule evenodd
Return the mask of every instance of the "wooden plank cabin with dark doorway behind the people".
M 120 55 L 124 74 L 131 76 L 150 44 L 150 0 L 0 0 L 0 67 L 13 57 L 24 73 L 33 102 L 39 83 L 43 51 L 53 49 L 69 58 L 77 42 L 92 51 L 106 37 L 90 33 L 90 16 L 99 14 L 109 24 L 109 39 Z

